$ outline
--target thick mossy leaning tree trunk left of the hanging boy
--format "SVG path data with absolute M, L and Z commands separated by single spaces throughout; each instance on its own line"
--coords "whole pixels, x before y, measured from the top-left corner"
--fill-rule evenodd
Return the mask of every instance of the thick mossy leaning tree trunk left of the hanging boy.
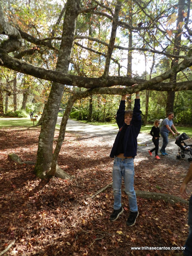
M 70 56 L 73 48 L 79 6 L 80 0 L 68 0 L 66 4 L 62 40 L 56 65 L 56 71 L 64 72 L 66 74 L 68 72 Z M 64 85 L 59 83 L 52 84 L 48 102 L 45 106 L 38 143 L 35 173 L 39 178 L 45 178 L 46 171 L 50 170 L 51 167 L 54 131 L 63 92 Z

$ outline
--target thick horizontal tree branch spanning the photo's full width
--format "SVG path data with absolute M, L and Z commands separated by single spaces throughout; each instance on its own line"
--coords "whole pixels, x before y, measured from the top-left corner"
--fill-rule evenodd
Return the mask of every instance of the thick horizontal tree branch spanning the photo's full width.
M 186 56 L 186 59 L 183 60 L 180 64 L 173 66 L 170 70 L 152 78 L 149 81 L 143 82 L 143 80 L 129 78 L 128 76 L 106 76 L 106 77 L 99 77 L 99 78 L 88 78 L 83 76 L 73 76 L 70 74 L 64 74 L 62 72 L 57 72 L 53 70 L 48 70 L 45 68 L 39 68 L 32 64 L 28 64 L 22 60 L 18 60 L 9 56 L 6 53 L 0 53 L 0 59 L 2 63 L 0 65 L 15 70 L 17 72 L 21 72 L 23 74 L 28 74 L 40 79 L 58 82 L 60 84 L 66 84 L 70 86 L 77 86 L 77 87 L 84 87 L 87 89 L 94 89 L 94 88 L 104 88 L 104 87 L 111 87 L 111 86 L 132 86 L 132 84 L 140 84 L 142 86 L 142 90 L 154 90 L 154 85 L 158 84 L 158 90 L 167 91 L 167 90 L 191 90 L 190 83 L 185 82 L 183 87 L 172 88 L 171 86 L 175 86 L 174 82 L 172 83 L 162 83 L 164 80 L 173 76 L 173 74 L 177 74 L 178 72 L 186 69 L 187 67 L 192 66 L 192 50 Z M 176 83 L 180 84 L 180 83 Z M 181 85 L 181 84 L 180 84 Z M 134 89 L 132 89 L 134 92 Z

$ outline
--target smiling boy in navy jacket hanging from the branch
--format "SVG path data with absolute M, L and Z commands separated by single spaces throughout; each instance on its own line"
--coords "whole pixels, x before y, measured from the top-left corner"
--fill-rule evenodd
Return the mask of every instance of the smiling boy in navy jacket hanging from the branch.
M 123 177 L 125 192 L 128 195 L 130 207 L 130 215 L 126 221 L 126 225 L 132 226 L 138 217 L 137 199 L 134 190 L 134 157 L 137 154 L 137 136 L 141 128 L 139 92 L 136 93 L 133 110 L 125 111 L 125 99 L 126 95 L 123 95 L 117 111 L 116 122 L 119 132 L 110 153 L 110 157 L 114 158 L 114 211 L 110 216 L 110 220 L 116 220 L 123 212 L 121 204 L 121 183 Z

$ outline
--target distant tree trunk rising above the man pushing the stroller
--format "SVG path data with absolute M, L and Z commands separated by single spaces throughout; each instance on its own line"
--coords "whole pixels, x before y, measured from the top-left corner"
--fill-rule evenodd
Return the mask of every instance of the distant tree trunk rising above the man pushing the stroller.
M 185 0 L 179 0 L 178 3 L 178 18 L 177 18 L 177 30 L 175 33 L 175 39 L 174 39 L 174 55 L 180 54 L 180 45 L 181 45 L 181 34 L 182 34 L 182 22 L 183 22 L 183 12 L 185 8 Z M 178 65 L 178 58 L 174 58 L 171 63 L 171 67 L 174 65 Z M 177 80 L 177 75 L 172 76 L 170 78 L 170 82 L 175 82 Z M 175 99 L 175 92 L 168 92 L 167 94 L 167 104 L 166 104 L 166 116 L 170 112 L 174 112 L 174 99 Z

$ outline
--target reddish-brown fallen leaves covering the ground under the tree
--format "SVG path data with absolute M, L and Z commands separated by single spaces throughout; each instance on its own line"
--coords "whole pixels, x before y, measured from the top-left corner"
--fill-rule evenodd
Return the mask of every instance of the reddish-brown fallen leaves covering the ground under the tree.
M 58 164 L 74 176 L 73 180 L 40 180 L 34 175 L 34 166 L 8 159 L 14 152 L 22 160 L 35 161 L 39 132 L 40 128 L 0 132 L 0 252 L 15 240 L 6 256 L 181 255 L 181 250 L 147 247 L 184 245 L 188 205 L 138 197 L 139 217 L 134 226 L 127 227 L 129 205 L 123 193 L 124 213 L 110 222 L 112 188 L 91 196 L 112 182 L 111 146 L 94 134 L 88 138 L 67 133 Z M 189 163 L 175 157 L 167 159 L 154 160 L 147 149 L 144 153 L 138 147 L 135 189 L 179 196 Z M 190 184 L 188 190 L 190 194 Z M 131 250 L 131 246 L 146 247 Z

